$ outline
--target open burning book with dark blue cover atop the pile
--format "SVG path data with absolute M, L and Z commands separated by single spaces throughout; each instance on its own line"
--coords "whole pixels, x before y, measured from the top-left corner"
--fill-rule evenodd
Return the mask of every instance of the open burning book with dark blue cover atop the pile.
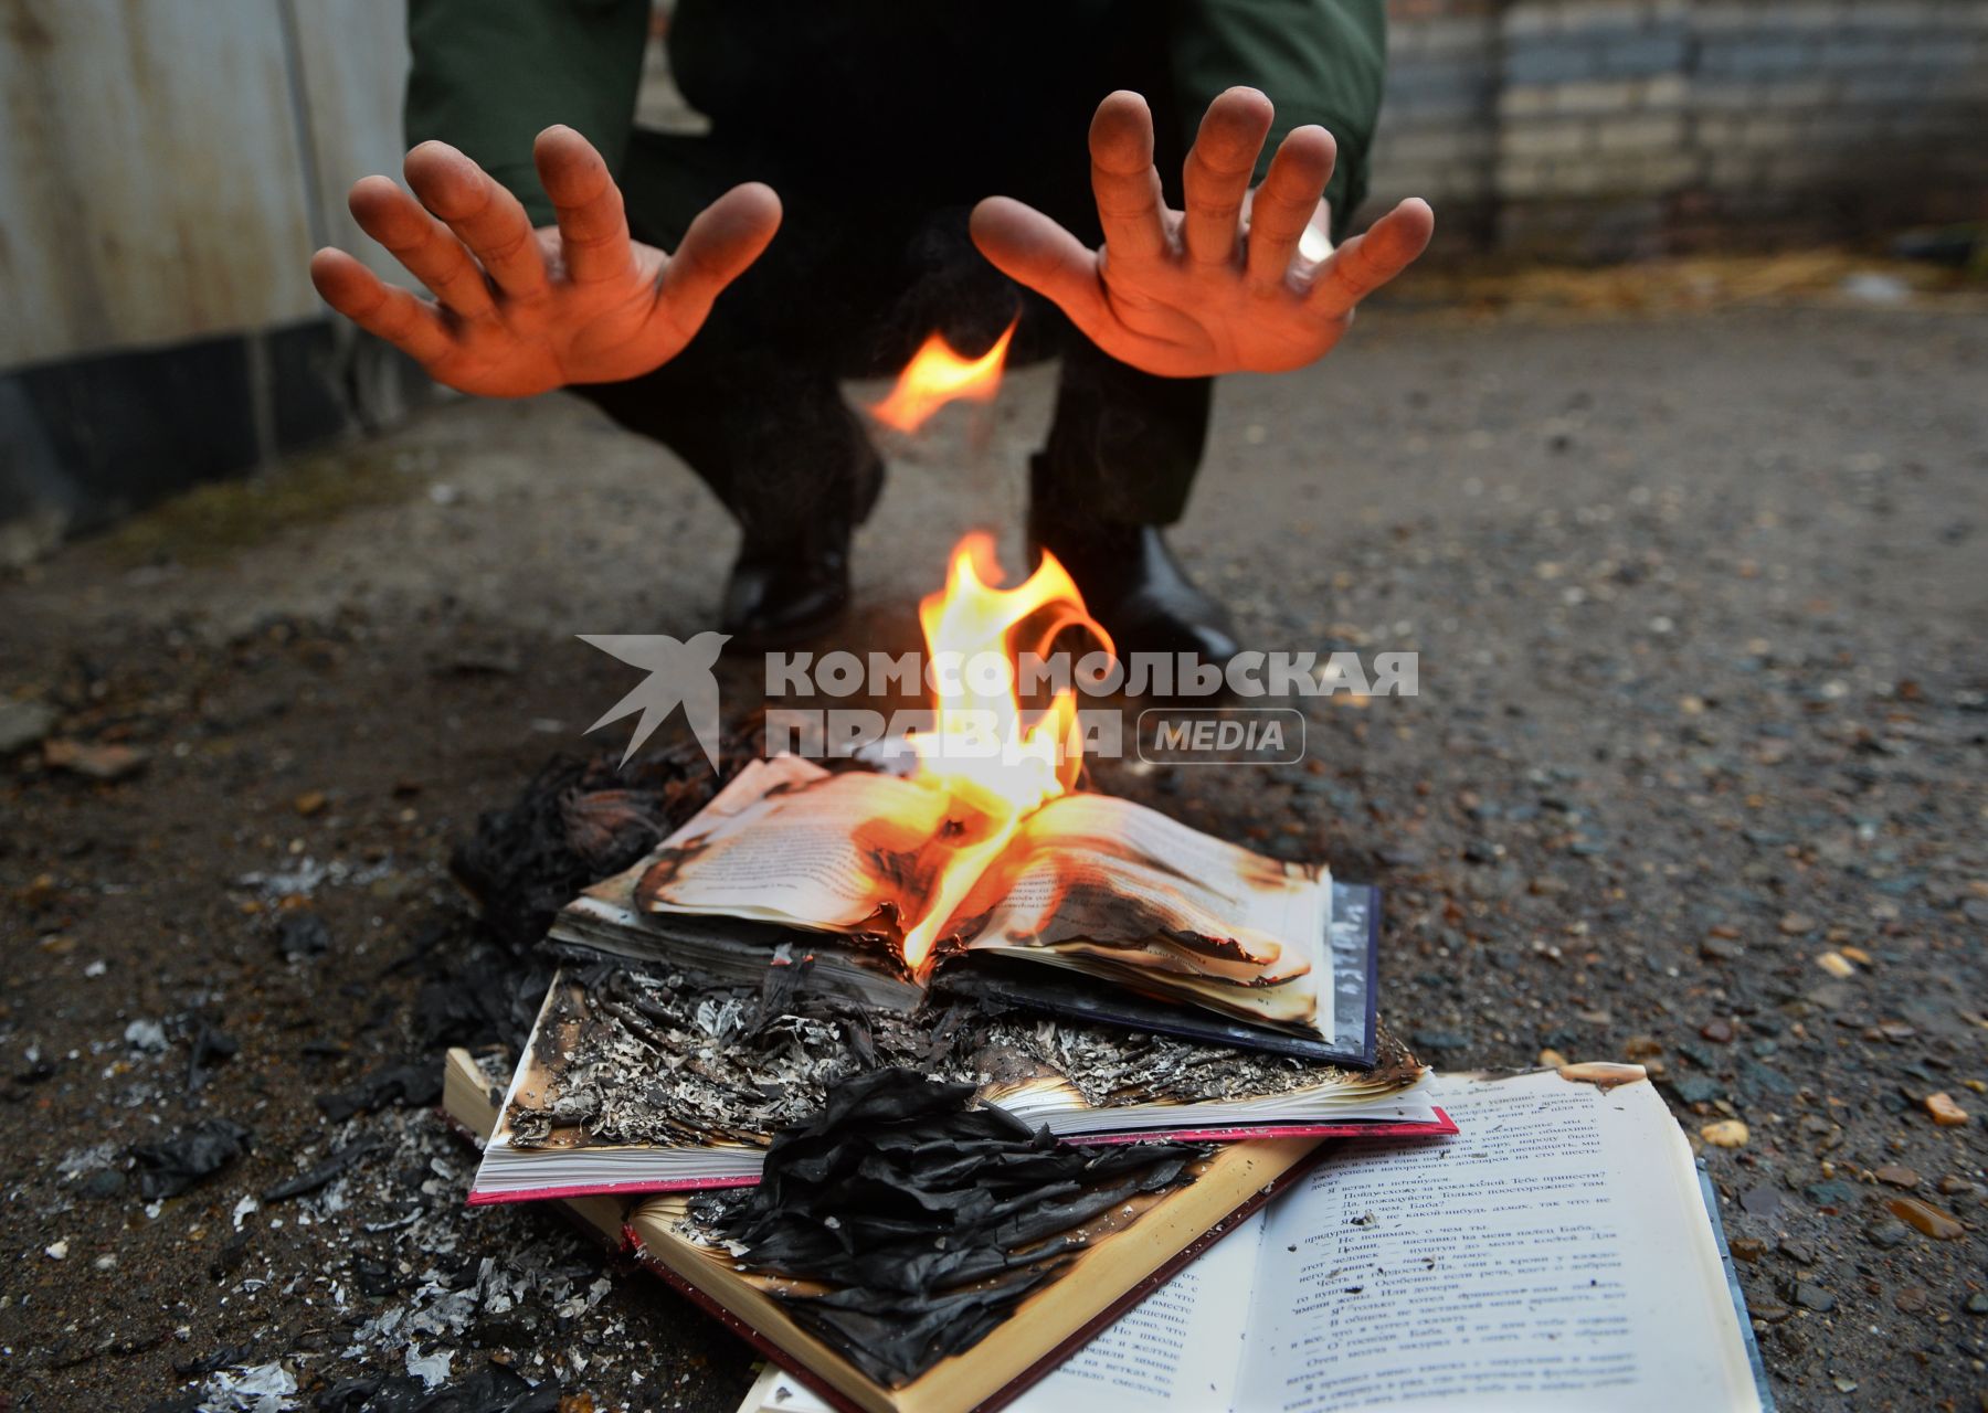
M 586 890 L 553 938 L 706 972 L 753 948 L 763 966 L 795 930 L 843 938 L 817 958 L 823 980 L 907 1010 L 934 968 L 946 984 L 970 972 L 966 994 L 1014 998 L 1018 972 L 1048 964 L 1068 980 L 1034 990 L 1087 998 L 1091 1014 L 1103 986 L 1141 1025 L 1191 1006 L 1211 1014 L 1209 1039 L 1276 1049 L 1262 1037 L 1282 1035 L 1290 1053 L 1372 1059 L 1368 956 L 1336 964 L 1332 936 L 1344 896 L 1370 954 L 1370 890 L 1340 894 L 1322 864 L 1264 859 L 1111 795 L 1052 799 L 998 847 L 984 829 L 912 777 L 755 761 L 632 880 Z M 936 950 L 907 966 L 914 934 Z

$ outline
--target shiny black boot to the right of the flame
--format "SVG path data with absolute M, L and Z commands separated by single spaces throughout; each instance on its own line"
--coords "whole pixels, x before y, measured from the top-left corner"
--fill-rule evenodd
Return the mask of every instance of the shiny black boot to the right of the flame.
M 1227 668 L 1241 650 L 1229 610 L 1195 588 L 1157 525 L 1101 521 L 1036 499 L 1028 545 L 1070 570 L 1121 662 L 1135 652 L 1191 652 Z

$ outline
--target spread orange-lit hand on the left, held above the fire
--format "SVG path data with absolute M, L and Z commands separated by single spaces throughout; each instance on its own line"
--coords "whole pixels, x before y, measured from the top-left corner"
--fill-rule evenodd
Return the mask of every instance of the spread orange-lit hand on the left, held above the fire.
M 360 229 L 435 302 L 332 248 L 310 258 L 312 284 L 435 382 L 485 397 L 529 397 L 640 378 L 674 358 L 718 292 L 779 229 L 779 199 L 746 183 L 690 223 L 676 254 L 664 254 L 628 238 L 614 177 L 577 131 L 547 127 L 533 159 L 557 227 L 535 231 L 517 197 L 447 143 L 408 153 L 414 197 L 388 177 L 352 187 Z

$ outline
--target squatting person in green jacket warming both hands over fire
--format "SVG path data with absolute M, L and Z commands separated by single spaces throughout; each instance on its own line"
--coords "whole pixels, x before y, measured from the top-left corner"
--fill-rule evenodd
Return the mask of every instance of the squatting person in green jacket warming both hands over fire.
M 747 646 L 847 606 L 883 461 L 837 382 L 1020 310 L 1014 356 L 1060 358 L 1032 545 L 1121 652 L 1227 660 L 1161 535 L 1213 378 L 1324 356 L 1431 233 L 1406 201 L 1332 246 L 1384 0 L 680 0 L 704 135 L 634 125 L 648 16 L 412 0 L 414 195 L 368 177 L 352 213 L 433 300 L 340 250 L 320 294 L 451 388 L 571 388 L 676 451 L 744 531 L 722 626 Z

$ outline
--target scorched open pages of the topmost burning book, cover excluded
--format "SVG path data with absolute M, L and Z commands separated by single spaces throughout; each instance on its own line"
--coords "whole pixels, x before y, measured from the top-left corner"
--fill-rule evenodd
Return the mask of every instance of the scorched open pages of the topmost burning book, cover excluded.
M 829 932 L 922 986 L 934 958 L 1072 968 L 1127 990 L 1332 1037 L 1332 880 L 1109 795 L 1012 833 L 916 779 L 755 761 L 642 868 L 650 918 Z M 692 926 L 692 932 L 698 928 Z M 912 946 L 909 946 L 909 942 Z

